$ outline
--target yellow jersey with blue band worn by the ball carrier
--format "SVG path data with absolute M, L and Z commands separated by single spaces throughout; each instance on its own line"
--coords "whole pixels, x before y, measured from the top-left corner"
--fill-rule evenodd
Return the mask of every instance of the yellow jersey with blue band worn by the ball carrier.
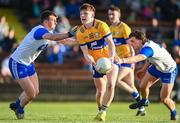
M 87 45 L 89 54 L 96 62 L 101 57 L 109 57 L 108 43 L 104 40 L 109 35 L 111 35 L 109 26 L 105 22 L 95 19 L 90 29 L 81 25 L 76 33 L 76 38 L 80 46 Z

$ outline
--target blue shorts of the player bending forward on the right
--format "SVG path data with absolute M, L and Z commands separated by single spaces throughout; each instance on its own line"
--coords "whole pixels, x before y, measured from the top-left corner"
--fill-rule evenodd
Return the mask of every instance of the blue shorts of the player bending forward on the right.
M 178 74 L 178 68 L 176 67 L 172 72 L 170 73 L 163 73 L 159 70 L 156 69 L 156 67 L 154 65 L 151 65 L 148 68 L 148 72 L 156 77 L 156 78 L 160 78 L 162 83 L 174 83 L 175 79 L 177 77 Z

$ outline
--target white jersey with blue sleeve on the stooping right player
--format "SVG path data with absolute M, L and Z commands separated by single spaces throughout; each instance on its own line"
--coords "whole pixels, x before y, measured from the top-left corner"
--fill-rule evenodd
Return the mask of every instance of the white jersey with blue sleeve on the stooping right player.
M 146 42 L 140 54 L 146 55 L 147 60 L 163 73 L 172 72 L 176 68 L 176 62 L 168 51 L 153 41 Z

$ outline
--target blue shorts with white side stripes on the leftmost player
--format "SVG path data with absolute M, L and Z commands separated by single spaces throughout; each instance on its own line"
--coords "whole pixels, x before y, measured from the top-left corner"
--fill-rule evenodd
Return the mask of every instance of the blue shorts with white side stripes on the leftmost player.
M 30 65 L 24 65 L 16 62 L 12 58 L 9 60 L 9 69 L 14 79 L 25 78 L 36 73 L 33 63 Z

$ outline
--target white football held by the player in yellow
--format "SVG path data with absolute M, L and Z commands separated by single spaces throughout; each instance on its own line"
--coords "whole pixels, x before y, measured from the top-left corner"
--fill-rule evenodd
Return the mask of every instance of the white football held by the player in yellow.
M 111 69 L 111 61 L 106 57 L 99 58 L 95 67 L 99 73 L 106 74 Z

